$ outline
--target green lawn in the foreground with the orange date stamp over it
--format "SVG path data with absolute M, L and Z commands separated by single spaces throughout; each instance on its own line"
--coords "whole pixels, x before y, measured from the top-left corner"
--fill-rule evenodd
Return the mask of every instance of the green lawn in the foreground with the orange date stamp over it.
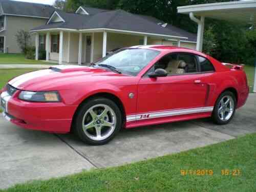
M 90 172 L 47 181 L 32 181 L 4 191 L 249 192 L 256 191 L 255 160 L 256 134 L 251 134 L 134 164 L 93 169 Z M 213 174 L 182 175 L 183 169 L 193 170 L 193 172 L 202 169 L 213 170 Z M 230 173 L 226 172 L 227 175 L 222 175 L 222 170 L 229 170 Z

